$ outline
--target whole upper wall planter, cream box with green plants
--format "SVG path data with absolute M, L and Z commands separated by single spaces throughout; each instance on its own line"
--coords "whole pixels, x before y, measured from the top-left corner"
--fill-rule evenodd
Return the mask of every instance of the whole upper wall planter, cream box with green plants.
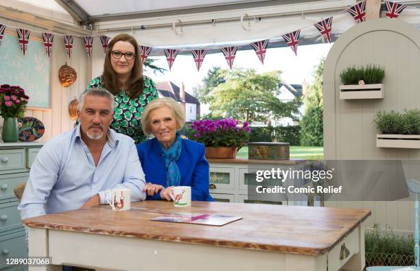
M 348 67 L 340 73 L 340 99 L 384 98 L 385 69 L 375 64 Z

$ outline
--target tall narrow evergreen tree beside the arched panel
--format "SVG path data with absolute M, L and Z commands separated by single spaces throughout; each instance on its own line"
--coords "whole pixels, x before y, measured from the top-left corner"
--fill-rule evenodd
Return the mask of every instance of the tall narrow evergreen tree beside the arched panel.
M 301 145 L 322 146 L 324 144 L 323 132 L 323 73 L 324 61 L 321 59 L 315 68 L 315 80 L 308 87 L 305 104 L 305 115 L 301 119 Z

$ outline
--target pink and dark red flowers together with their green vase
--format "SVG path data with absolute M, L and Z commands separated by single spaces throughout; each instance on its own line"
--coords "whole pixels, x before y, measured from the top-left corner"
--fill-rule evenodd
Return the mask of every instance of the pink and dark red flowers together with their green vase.
M 1 138 L 4 142 L 17 142 L 19 130 L 17 118 L 23 117 L 29 97 L 20 86 L 0 86 L 0 115 L 3 117 Z

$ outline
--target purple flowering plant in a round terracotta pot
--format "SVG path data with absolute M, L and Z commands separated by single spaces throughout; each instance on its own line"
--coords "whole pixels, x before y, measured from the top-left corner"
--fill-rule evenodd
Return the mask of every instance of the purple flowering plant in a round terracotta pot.
M 234 119 L 202 119 L 194 121 L 196 141 L 206 146 L 207 158 L 235 158 L 237 150 L 249 139 L 250 128 L 245 121 L 242 127 Z

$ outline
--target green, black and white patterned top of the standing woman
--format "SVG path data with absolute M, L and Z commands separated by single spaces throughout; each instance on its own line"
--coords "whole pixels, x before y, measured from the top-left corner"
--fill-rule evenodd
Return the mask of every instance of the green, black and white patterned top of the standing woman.
M 91 88 L 103 88 L 104 82 L 102 76 L 94 78 L 88 85 L 88 89 Z M 125 91 L 119 91 L 115 95 L 115 106 L 114 106 L 114 119 L 110 124 L 110 128 L 121 134 L 126 134 L 135 140 L 135 143 L 141 143 L 148 138 L 143 133 L 141 128 L 141 116 L 145 106 L 158 97 L 158 91 L 154 82 L 144 76 L 144 89 L 137 99 L 131 99 L 126 95 Z

